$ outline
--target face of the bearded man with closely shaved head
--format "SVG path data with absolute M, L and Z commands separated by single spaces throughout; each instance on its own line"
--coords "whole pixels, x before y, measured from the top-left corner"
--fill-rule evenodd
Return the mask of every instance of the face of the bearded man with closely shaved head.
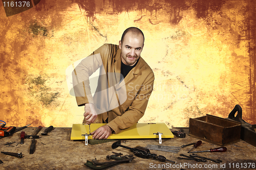
M 125 65 L 133 66 L 140 58 L 140 53 L 144 46 L 142 34 L 136 35 L 132 32 L 127 32 L 123 37 L 123 43 L 119 41 L 121 49 L 122 62 Z

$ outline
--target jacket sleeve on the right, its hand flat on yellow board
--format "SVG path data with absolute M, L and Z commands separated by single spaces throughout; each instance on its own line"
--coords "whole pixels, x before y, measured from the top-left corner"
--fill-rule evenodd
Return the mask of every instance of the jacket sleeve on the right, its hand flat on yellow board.
M 152 71 L 151 74 L 147 76 L 145 83 L 141 86 L 138 93 L 135 95 L 135 100 L 132 102 L 132 105 L 121 116 L 117 116 L 107 124 L 115 131 L 115 133 L 119 133 L 123 129 L 133 126 L 144 115 L 148 99 L 153 91 L 154 80 L 155 77 Z M 127 97 L 129 98 L 132 96 Z

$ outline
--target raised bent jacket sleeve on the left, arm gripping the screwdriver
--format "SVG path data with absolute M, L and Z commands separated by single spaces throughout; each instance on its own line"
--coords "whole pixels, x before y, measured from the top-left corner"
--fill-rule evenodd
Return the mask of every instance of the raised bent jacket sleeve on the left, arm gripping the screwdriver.
M 109 52 L 108 45 L 104 44 L 94 51 L 90 56 L 81 60 L 72 72 L 73 88 L 78 106 L 93 103 L 89 77 L 103 66 L 106 54 Z

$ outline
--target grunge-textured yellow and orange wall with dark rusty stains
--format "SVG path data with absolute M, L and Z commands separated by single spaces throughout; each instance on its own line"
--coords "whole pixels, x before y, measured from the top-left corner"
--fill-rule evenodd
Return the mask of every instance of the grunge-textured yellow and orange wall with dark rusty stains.
M 227 117 L 239 104 L 256 123 L 254 1 L 41 0 L 13 10 L 2 2 L 0 120 L 8 126 L 82 123 L 66 68 L 117 44 L 128 27 L 143 31 L 141 56 L 155 74 L 140 122 L 188 127 L 190 117 Z

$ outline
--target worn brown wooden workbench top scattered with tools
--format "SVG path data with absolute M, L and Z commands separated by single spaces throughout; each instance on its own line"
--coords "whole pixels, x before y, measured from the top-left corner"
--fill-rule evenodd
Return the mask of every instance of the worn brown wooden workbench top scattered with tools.
M 26 134 L 32 134 L 36 128 L 26 128 L 23 131 Z M 87 160 L 97 159 L 106 161 L 107 155 L 113 155 L 112 152 L 122 153 L 123 155 L 133 155 L 125 148 L 118 147 L 112 149 L 114 141 L 100 143 L 95 145 L 85 145 L 84 140 L 71 140 L 72 128 L 54 128 L 47 136 L 42 136 L 46 128 L 42 128 L 38 133 L 39 139 L 36 139 L 36 149 L 34 154 L 29 154 L 29 147 L 32 139 L 25 139 L 24 144 L 20 142 L 20 132 L 0 139 L 0 148 L 4 152 L 23 153 L 23 158 L 17 158 L 0 153 L 0 159 L 4 162 L 0 164 L 0 169 L 90 169 L 84 163 Z M 186 131 L 187 130 L 187 131 Z M 173 131 L 173 130 L 172 130 Z M 162 139 L 161 145 L 180 147 L 183 144 L 198 141 L 197 138 L 188 135 L 188 129 L 184 131 L 185 138 L 166 138 Z M 7 147 L 7 142 L 14 142 L 14 147 Z M 127 139 L 121 140 L 121 144 L 134 148 L 137 145 L 146 147 L 147 144 L 160 145 L 158 139 Z M 193 151 L 204 151 L 220 147 L 219 145 L 202 141 L 202 144 Z M 151 150 L 151 153 L 165 156 L 166 159 L 176 161 L 177 164 L 169 162 L 160 162 L 155 159 L 142 159 L 136 157 L 130 163 L 122 163 L 108 169 L 256 169 L 256 147 L 240 140 L 236 143 L 225 146 L 226 152 L 223 153 L 198 153 L 200 156 L 210 157 L 212 159 L 221 159 L 222 163 L 211 161 L 196 162 L 194 160 L 179 160 L 180 154 L 189 155 L 187 152 L 192 145 L 181 148 L 179 153 L 168 153 Z M 247 168 L 244 168 L 247 165 Z M 248 166 L 250 165 L 250 168 Z M 202 168 L 200 168 L 202 166 Z M 225 166 L 225 168 L 224 168 Z

